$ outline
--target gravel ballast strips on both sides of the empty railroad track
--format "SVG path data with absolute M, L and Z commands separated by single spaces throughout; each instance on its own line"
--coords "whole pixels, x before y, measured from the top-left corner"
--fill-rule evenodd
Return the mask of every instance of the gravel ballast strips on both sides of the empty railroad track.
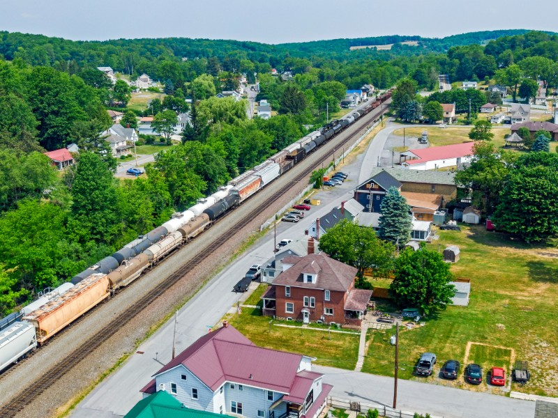
M 307 183 L 293 183 L 293 187 L 288 194 L 273 202 L 266 200 L 269 194 L 276 192 L 285 183 L 292 183 L 295 171 L 316 165 L 317 160 L 331 153 L 335 148 L 335 144 L 340 139 L 344 139 L 348 134 L 352 134 L 356 130 L 364 132 L 366 125 L 371 123 L 371 119 L 370 117 L 365 118 L 365 121 L 359 121 L 359 123 L 349 127 L 347 131 L 340 134 L 340 137 L 320 148 L 316 153 L 298 164 L 295 169 L 287 172 L 285 176 L 271 183 L 264 191 L 253 196 L 248 202 L 222 219 L 217 226 L 200 235 L 194 242 L 186 245 L 186 247 L 176 251 L 154 270 L 144 274 L 134 284 L 117 294 L 113 298 L 114 300 L 101 304 L 84 316 L 78 323 L 71 325 L 61 335 L 56 336 L 50 343 L 40 348 L 32 357 L 3 375 L 0 378 L 0 393 L 2 394 L 0 403 L 6 403 L 6 401 L 14 396 L 24 396 L 24 389 L 29 382 L 43 376 L 53 364 L 56 364 L 60 359 L 66 357 L 75 348 L 80 346 L 81 341 L 94 338 L 96 332 L 103 327 L 103 324 L 113 318 L 125 316 L 126 310 L 135 300 L 149 293 L 152 288 L 161 281 L 164 281 L 169 274 L 188 262 L 195 255 L 195 251 L 203 249 L 213 240 L 218 239 L 223 232 L 233 226 L 236 219 L 246 215 L 246 213 L 254 208 L 262 208 L 262 212 L 242 231 L 234 235 L 230 240 L 223 242 L 219 251 L 216 251 L 213 256 L 206 258 L 204 263 L 200 263 L 196 268 L 188 272 L 172 288 L 169 288 L 164 295 L 154 301 L 150 309 L 142 311 L 141 314 L 130 320 L 118 333 L 94 350 L 86 360 L 68 371 L 63 378 L 47 389 L 40 398 L 27 405 L 27 408 L 24 408 L 17 416 L 29 418 L 46 417 L 58 415 L 61 410 L 66 409 L 66 405 L 71 403 L 75 396 L 79 396 L 87 388 L 91 387 L 105 371 L 116 364 L 119 358 L 126 353 L 133 352 L 137 343 L 142 341 L 146 334 L 150 332 L 153 324 L 160 323 L 169 312 L 181 306 L 181 304 L 198 291 L 202 284 L 204 284 L 204 281 L 209 279 L 211 272 L 215 272 L 218 268 L 225 265 L 229 260 L 230 254 L 233 254 L 240 247 L 241 243 L 250 236 L 252 231 L 259 231 L 259 226 L 296 196 L 296 194 L 301 192 Z M 356 135 L 350 144 L 356 141 L 358 137 L 359 135 Z

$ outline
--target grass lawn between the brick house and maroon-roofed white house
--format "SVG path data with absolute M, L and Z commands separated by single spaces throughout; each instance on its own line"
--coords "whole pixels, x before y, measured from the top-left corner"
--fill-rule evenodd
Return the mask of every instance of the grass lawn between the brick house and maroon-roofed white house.
M 316 357 L 316 364 L 353 370 L 359 356 L 359 335 L 312 330 L 312 328 L 277 327 L 273 323 L 294 325 L 262 316 L 260 309 L 243 308 L 242 314 L 228 318 L 237 330 L 260 347 L 284 350 Z M 271 321 L 271 327 L 270 327 Z M 270 331 L 271 330 L 271 331 Z

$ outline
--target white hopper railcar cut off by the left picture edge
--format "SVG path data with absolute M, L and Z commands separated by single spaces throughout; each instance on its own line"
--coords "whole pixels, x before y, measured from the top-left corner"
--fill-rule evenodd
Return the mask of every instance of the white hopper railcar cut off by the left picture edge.
M 6 369 L 29 351 L 37 348 L 35 327 L 28 322 L 17 322 L 0 332 L 0 371 Z

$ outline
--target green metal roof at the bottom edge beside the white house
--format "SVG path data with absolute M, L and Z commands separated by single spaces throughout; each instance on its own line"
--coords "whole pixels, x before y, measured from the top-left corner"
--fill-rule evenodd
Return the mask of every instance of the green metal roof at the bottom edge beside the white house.
M 160 390 L 136 403 L 124 418 L 223 418 L 213 414 L 186 408 L 171 394 Z

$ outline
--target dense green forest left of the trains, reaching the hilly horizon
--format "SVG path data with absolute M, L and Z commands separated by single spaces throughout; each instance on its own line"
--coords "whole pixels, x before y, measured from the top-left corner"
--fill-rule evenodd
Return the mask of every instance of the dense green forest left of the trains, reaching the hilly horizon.
M 517 32 L 525 31 L 505 31 Z M 347 88 L 391 88 L 409 77 L 403 99 L 416 106 L 416 89 L 437 89 L 440 73 L 452 81 L 495 80 L 514 95 L 529 86 L 525 80 L 558 84 L 557 36 L 528 32 L 478 45 L 497 34 L 349 52 L 357 40 L 273 46 L 179 38 L 74 42 L 0 33 L 0 314 L 162 224 L 174 210 L 302 137 L 306 127 L 319 127 L 326 109 L 330 115 L 340 110 Z M 143 113 L 133 111 L 126 107 L 128 84 L 113 84 L 98 66 L 110 66 L 128 81 L 145 72 L 164 85 L 165 96 Z M 272 68 L 290 74 L 271 75 Z M 269 120 L 249 120 L 245 102 L 215 97 L 238 88 L 243 74 L 255 82 L 255 72 L 257 99 L 278 112 Z M 191 107 L 186 98 L 193 99 Z M 491 100 L 480 92 L 451 91 L 432 101 L 455 101 L 461 111 L 469 98 L 475 107 Z M 192 125 L 181 144 L 146 167 L 146 176 L 119 181 L 103 134 L 112 124 L 109 108 L 123 111 L 130 124 L 142 114 L 172 121 L 190 111 Z M 71 143 L 80 147 L 77 165 L 60 173 L 43 152 Z

